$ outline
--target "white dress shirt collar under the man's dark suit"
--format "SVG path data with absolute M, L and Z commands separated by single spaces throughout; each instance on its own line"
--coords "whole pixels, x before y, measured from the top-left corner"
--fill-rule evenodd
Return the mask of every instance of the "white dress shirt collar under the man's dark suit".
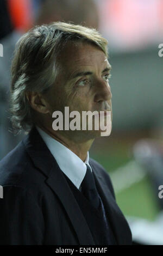
M 54 156 L 60 169 L 64 174 L 73 182 L 73 184 L 81 191 L 80 185 L 86 174 L 86 164 L 89 164 L 89 151 L 87 151 L 87 157 L 83 162 L 76 154 L 70 149 L 66 148 L 63 144 L 56 139 L 49 136 L 46 132 L 42 131 L 40 127 L 36 126 L 37 131 L 42 137 L 43 141 L 47 145 L 49 151 Z M 92 172 L 92 169 L 91 169 Z

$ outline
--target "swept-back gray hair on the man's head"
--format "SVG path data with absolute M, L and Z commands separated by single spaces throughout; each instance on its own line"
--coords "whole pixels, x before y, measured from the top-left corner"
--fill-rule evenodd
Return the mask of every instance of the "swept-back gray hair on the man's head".
M 10 113 L 15 134 L 33 127 L 27 92 L 45 93 L 58 74 L 57 56 L 68 41 L 95 44 L 108 57 L 108 41 L 96 29 L 65 22 L 35 26 L 16 44 L 11 65 Z

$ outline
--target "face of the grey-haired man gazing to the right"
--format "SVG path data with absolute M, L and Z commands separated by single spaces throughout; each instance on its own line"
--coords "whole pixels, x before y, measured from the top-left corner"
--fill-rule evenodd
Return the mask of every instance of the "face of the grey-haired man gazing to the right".
M 110 64 L 104 52 L 86 42 L 68 44 L 59 55 L 60 70 L 47 94 L 49 113 L 69 111 L 111 111 Z M 54 119 L 53 119 L 54 120 Z M 67 136 L 95 138 L 99 131 L 65 131 Z

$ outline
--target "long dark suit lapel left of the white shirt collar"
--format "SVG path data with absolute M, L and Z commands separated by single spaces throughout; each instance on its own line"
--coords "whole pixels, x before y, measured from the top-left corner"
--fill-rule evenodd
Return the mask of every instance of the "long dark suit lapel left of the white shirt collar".
M 46 176 L 46 184 L 57 194 L 76 231 L 80 245 L 95 245 L 90 229 L 76 199 L 57 162 L 43 142 L 39 132 L 33 129 L 24 139 L 26 150 L 34 165 Z

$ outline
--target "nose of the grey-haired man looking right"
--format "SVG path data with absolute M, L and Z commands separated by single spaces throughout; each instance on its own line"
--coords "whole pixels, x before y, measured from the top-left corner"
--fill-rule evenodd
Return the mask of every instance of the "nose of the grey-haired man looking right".
M 98 82 L 95 91 L 95 102 L 109 101 L 112 98 L 111 88 L 109 83 L 105 81 Z

